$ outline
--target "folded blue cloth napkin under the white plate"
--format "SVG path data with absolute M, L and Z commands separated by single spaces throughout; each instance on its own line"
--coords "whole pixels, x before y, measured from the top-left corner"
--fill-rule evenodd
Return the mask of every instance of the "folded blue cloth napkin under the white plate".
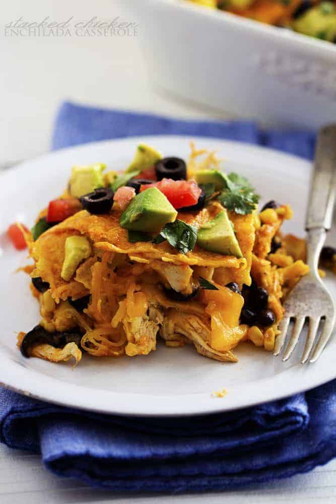
M 52 147 L 130 135 L 239 140 L 311 159 L 309 132 L 184 121 L 64 103 Z M 336 454 L 336 381 L 229 413 L 135 418 L 62 408 L 0 389 L 0 440 L 41 453 L 52 472 L 117 491 L 206 491 L 291 476 Z

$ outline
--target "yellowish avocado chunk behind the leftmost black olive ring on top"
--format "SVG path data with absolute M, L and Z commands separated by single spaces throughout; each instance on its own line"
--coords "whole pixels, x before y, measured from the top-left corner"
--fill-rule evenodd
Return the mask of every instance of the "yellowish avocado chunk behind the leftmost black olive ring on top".
M 103 171 L 106 165 L 103 163 L 90 166 L 74 166 L 70 178 L 70 193 L 75 198 L 84 194 L 92 193 L 97 187 L 104 187 Z

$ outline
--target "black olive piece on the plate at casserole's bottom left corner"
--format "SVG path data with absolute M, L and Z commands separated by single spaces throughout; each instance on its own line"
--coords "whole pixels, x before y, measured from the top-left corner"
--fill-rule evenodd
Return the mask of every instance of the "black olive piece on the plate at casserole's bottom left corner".
M 35 343 L 47 343 L 55 348 L 64 347 L 67 343 L 76 343 L 80 347 L 82 336 L 79 333 L 49 333 L 42 326 L 35 326 L 23 338 L 20 350 L 24 357 L 29 357 L 29 349 Z

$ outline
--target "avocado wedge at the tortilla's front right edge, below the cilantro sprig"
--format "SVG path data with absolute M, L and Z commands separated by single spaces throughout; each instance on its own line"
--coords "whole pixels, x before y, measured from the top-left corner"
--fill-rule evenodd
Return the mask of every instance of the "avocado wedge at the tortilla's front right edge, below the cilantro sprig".
M 200 226 L 197 243 L 206 250 L 224 256 L 243 257 L 226 210 L 216 215 L 214 220 Z

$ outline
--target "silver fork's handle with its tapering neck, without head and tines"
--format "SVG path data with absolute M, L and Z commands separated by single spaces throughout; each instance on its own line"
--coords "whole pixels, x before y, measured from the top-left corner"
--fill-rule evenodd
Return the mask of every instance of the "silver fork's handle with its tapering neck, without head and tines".
M 318 260 L 326 231 L 331 227 L 335 193 L 336 124 L 330 124 L 318 134 L 306 220 L 307 264 L 318 280 Z

